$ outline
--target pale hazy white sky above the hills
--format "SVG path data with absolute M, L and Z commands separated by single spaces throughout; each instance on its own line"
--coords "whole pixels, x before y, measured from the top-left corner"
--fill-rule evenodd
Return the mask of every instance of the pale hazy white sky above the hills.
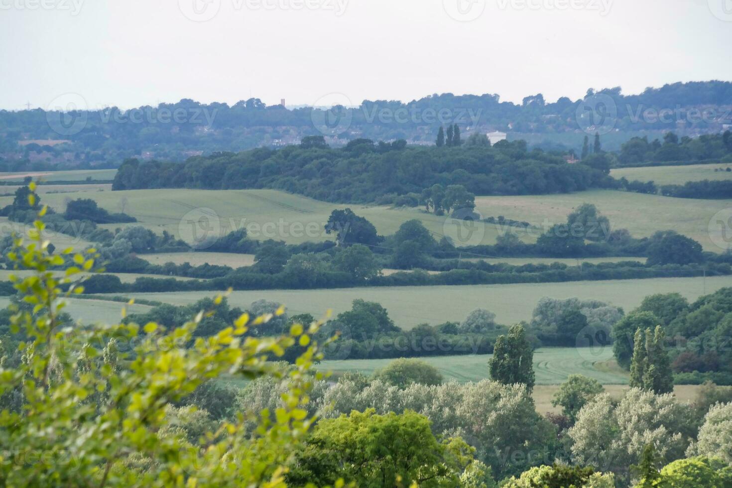
M 732 0 L 0 0 L 0 42 L 7 109 L 553 101 L 732 80 Z

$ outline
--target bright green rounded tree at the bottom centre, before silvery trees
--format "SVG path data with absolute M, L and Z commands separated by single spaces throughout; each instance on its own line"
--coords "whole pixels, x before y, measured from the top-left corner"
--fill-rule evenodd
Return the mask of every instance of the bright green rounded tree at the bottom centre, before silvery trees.
M 318 422 L 287 479 L 294 486 L 339 478 L 359 487 L 457 486 L 470 462 L 471 448 L 460 438 L 439 443 L 424 416 L 371 408 Z

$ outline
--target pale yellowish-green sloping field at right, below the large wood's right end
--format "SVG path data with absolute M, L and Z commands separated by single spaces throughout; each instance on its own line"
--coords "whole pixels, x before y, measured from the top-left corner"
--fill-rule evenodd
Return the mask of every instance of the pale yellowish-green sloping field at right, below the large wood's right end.
M 717 211 L 732 206 L 732 200 L 671 198 L 602 189 L 561 195 L 476 197 L 475 203 L 485 217 L 503 215 L 539 226 L 567 222 L 567 215 L 578 206 L 593 203 L 610 219 L 613 229 L 626 228 L 635 237 L 651 236 L 657 230 L 676 230 L 714 252 L 723 249 L 709 239 L 709 220 Z M 518 235 L 521 236 L 520 230 Z

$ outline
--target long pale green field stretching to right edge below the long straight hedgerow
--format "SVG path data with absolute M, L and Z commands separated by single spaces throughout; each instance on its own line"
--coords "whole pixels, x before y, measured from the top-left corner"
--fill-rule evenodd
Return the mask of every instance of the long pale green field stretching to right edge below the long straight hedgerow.
M 706 293 L 732 286 L 730 277 L 706 278 Z M 311 313 L 322 317 L 327 309 L 334 313 L 351 309 L 351 301 L 377 301 L 389 312 L 397 326 L 411 329 L 419 323 L 438 324 L 463 320 L 477 308 L 496 314 L 498 323 L 510 324 L 529 320 L 539 299 L 550 296 L 567 299 L 600 299 L 626 312 L 638 307 L 643 298 L 653 293 L 679 292 L 688 299 L 705 293 L 703 278 L 624 279 L 614 281 L 520 283 L 512 285 L 406 286 L 383 288 L 339 288 L 335 290 L 253 290 L 234 291 L 228 296 L 231 304 L 249 307 L 253 301 L 267 299 L 283 303 L 290 315 Z M 212 292 L 138 293 L 137 298 L 184 305 Z

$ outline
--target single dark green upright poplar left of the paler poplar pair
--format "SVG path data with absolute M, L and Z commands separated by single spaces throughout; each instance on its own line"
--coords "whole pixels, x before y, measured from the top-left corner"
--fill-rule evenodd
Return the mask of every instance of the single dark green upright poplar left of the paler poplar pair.
M 534 388 L 534 349 L 522 325 L 516 324 L 507 335 L 498 336 L 488 369 L 490 378 L 498 383 L 523 383 L 529 390 Z

